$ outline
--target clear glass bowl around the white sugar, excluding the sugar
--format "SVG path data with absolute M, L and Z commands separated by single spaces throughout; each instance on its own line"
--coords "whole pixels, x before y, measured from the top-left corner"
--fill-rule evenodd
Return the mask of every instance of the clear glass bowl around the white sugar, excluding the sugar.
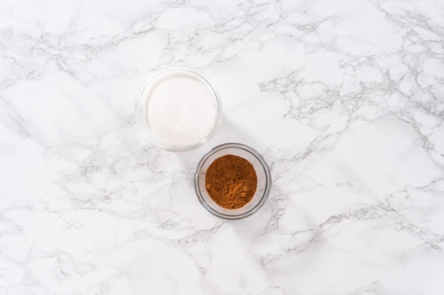
M 156 139 L 156 137 L 151 132 L 150 126 L 148 125 L 147 107 L 152 91 L 154 90 L 155 86 L 157 86 L 157 83 L 159 83 L 164 79 L 167 79 L 169 76 L 174 76 L 177 74 L 191 76 L 192 78 L 198 79 L 206 86 L 208 86 L 211 93 L 213 93 L 213 98 L 217 108 L 216 120 L 214 122 L 213 128 L 211 129 L 211 132 L 209 132 L 209 134 L 207 134 L 206 137 L 201 139 L 201 141 L 191 146 L 179 147 L 179 146 L 167 145 L 164 142 Z M 221 98 L 218 95 L 216 87 L 213 85 L 213 83 L 211 83 L 208 77 L 205 76 L 201 71 L 194 69 L 190 66 L 167 66 L 165 69 L 161 69 L 160 71 L 156 71 L 155 73 L 153 73 L 143 83 L 142 87 L 140 87 L 140 91 L 138 92 L 138 95 L 135 98 L 134 112 L 135 112 L 135 120 L 138 123 L 139 129 L 143 133 L 143 135 L 148 139 L 148 141 L 150 141 L 152 144 L 159 147 L 160 149 L 164 149 L 165 151 L 180 153 L 184 151 L 192 151 L 193 149 L 196 149 L 199 146 L 203 146 L 204 144 L 206 144 L 207 141 L 209 141 L 209 139 L 211 139 L 211 137 L 213 137 L 221 122 L 222 104 L 221 104 Z

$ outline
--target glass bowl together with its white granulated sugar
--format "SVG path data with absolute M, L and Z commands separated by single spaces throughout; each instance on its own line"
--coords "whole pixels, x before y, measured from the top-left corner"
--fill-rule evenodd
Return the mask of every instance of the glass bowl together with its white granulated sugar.
M 189 66 L 156 71 L 135 99 L 135 119 L 145 137 L 165 151 L 204 145 L 221 122 L 221 99 L 213 83 Z

